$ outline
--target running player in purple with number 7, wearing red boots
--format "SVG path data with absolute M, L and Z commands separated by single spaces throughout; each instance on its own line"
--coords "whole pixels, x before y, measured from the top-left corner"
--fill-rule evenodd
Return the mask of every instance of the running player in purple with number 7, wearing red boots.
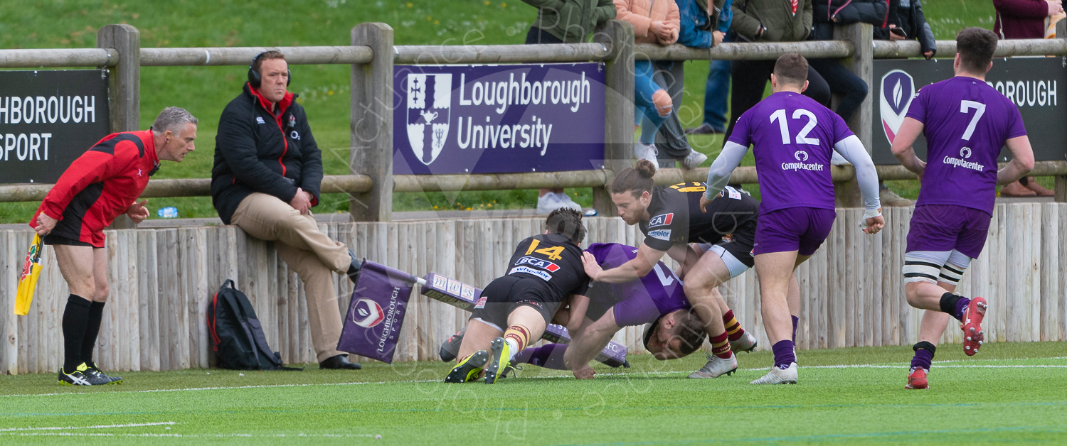
M 984 341 L 986 299 L 954 294 L 971 260 L 986 243 L 997 184 L 1010 184 L 1034 167 L 1034 152 L 1019 109 L 986 83 L 997 35 L 967 28 L 956 35 L 955 77 L 922 87 L 911 99 L 893 141 L 893 155 L 922 186 L 904 255 L 908 304 L 923 312 L 907 389 L 927 389 L 926 375 L 950 317 L 960 321 L 964 352 Z M 926 136 L 923 162 L 911 145 Z M 1012 161 L 998 170 L 1007 146 Z

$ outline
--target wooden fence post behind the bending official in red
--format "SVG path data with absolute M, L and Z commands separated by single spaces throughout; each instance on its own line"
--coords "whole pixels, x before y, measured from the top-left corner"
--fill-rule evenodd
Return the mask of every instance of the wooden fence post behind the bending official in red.
M 96 32 L 96 48 L 114 48 L 118 52 L 118 65 L 108 79 L 110 131 L 141 130 L 141 32 L 132 24 L 108 24 Z M 137 225 L 126 214 L 120 215 L 108 227 L 133 228 Z

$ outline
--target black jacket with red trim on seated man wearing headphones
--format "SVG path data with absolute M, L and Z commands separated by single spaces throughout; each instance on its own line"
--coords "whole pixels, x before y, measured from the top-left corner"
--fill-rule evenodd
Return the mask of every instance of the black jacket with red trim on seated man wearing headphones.
M 315 144 L 304 108 L 291 93 L 267 111 L 249 84 L 219 117 L 211 168 L 211 202 L 226 225 L 245 197 L 254 192 L 289 202 L 300 187 L 319 202 L 322 152 Z

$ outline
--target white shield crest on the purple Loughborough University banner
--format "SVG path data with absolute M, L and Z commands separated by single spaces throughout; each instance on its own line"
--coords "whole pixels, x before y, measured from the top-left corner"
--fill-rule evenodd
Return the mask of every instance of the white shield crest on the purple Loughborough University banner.
M 451 103 L 451 73 L 408 75 L 408 143 L 423 164 L 433 163 L 445 147 Z

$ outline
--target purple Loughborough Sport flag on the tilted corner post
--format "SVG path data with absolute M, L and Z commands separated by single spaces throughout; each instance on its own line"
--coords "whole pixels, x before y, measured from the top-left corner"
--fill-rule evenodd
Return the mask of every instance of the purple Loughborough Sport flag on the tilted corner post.
M 392 364 L 413 287 L 411 275 L 364 260 L 337 349 Z

